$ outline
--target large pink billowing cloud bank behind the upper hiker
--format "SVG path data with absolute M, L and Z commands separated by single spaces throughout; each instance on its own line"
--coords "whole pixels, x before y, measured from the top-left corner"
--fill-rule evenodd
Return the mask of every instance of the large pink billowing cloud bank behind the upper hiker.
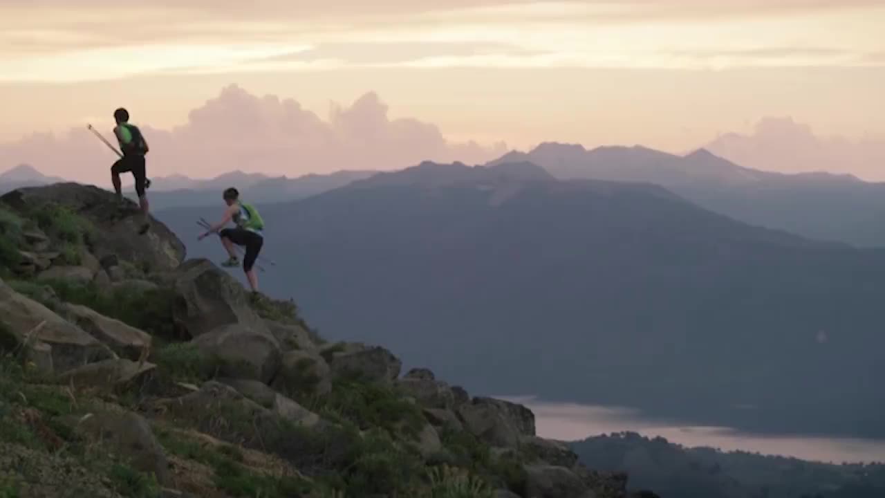
M 504 144 L 451 143 L 433 124 L 390 119 L 388 106 L 374 93 L 351 105 L 332 105 L 323 120 L 295 100 L 258 97 L 231 85 L 191 111 L 178 128 L 151 128 L 138 116 L 132 121 L 149 141 L 149 174 L 155 176 L 210 177 L 235 169 L 288 176 L 386 170 L 422 160 L 481 163 L 506 152 Z M 112 140 L 110 131 L 104 135 Z M 39 133 L 0 144 L 0 169 L 28 163 L 44 174 L 80 181 L 106 183 L 113 160 L 85 125 L 61 136 Z

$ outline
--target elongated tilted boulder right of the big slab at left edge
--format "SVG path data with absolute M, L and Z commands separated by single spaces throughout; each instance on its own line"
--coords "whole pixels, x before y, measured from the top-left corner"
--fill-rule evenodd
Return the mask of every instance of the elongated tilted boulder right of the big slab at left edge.
M 142 352 L 150 347 L 151 338 L 147 332 L 98 314 L 89 307 L 67 303 L 63 307 L 69 320 L 110 347 L 119 356 L 137 360 Z

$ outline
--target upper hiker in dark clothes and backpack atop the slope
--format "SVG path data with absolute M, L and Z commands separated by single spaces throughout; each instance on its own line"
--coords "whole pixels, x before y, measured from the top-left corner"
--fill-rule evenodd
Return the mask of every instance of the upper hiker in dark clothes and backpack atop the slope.
M 117 121 L 113 134 L 117 136 L 120 152 L 123 153 L 117 162 L 111 167 L 111 181 L 114 191 L 120 203 L 123 202 L 123 192 L 119 183 L 119 174 L 131 172 L 135 178 L 135 193 L 138 194 L 138 205 L 142 208 L 142 226 L 139 234 L 144 234 L 150 229 L 150 215 L 148 214 L 148 197 L 145 193 L 147 188 L 147 172 L 145 171 L 144 154 L 150 151 L 147 141 L 142 136 L 142 130 L 135 125 L 129 124 L 129 113 L 126 109 L 119 108 L 113 113 Z

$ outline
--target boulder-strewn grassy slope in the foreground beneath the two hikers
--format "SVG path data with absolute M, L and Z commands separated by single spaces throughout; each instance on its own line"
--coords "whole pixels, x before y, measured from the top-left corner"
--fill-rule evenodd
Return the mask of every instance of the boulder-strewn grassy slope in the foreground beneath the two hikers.
M 135 212 L 0 198 L 0 496 L 625 496 L 525 407 L 326 342 Z

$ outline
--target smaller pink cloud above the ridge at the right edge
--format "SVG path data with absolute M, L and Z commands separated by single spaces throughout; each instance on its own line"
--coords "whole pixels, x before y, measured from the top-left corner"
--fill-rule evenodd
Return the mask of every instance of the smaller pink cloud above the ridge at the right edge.
M 705 147 L 742 166 L 766 171 L 828 171 L 885 181 L 885 136 L 857 141 L 817 136 L 789 117 L 764 118 L 750 135 L 720 135 Z

